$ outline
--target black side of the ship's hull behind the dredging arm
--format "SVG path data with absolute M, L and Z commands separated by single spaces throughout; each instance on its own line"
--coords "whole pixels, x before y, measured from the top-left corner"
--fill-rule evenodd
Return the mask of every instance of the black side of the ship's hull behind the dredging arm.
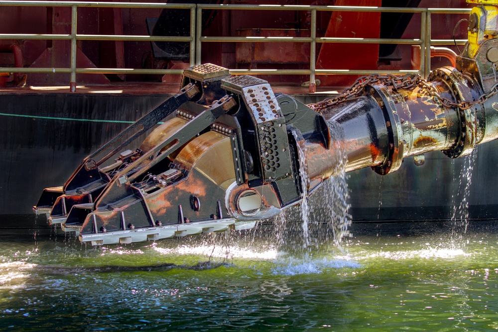
M 42 190 L 62 186 L 85 156 L 128 125 L 114 121 L 135 121 L 168 97 L 0 95 L 0 233 L 52 233 L 45 216 L 31 211 Z M 475 152 L 466 193 L 470 220 L 496 219 L 497 146 L 490 142 Z M 349 173 L 353 221 L 451 220 L 454 206 L 464 198 L 466 180 L 460 184 L 459 177 L 466 171 L 464 163 L 465 158 L 452 160 L 431 152 L 425 165 L 417 167 L 406 158 L 400 170 L 388 176 L 371 169 Z

